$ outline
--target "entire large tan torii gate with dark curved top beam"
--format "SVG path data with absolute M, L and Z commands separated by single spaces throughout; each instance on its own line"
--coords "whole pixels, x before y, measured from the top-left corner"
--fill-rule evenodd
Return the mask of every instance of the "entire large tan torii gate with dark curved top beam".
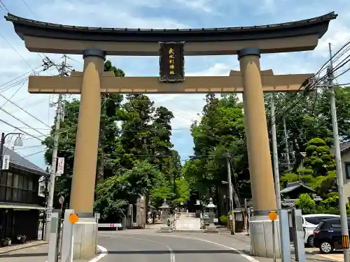
M 159 30 L 74 27 L 10 14 L 6 20 L 13 22 L 16 33 L 31 52 L 83 54 L 83 72 L 73 72 L 67 78 L 30 76 L 28 88 L 30 93 L 80 94 L 70 208 L 81 217 L 92 217 L 102 93 L 242 92 L 254 217 L 263 220 L 269 210 L 276 210 L 263 92 L 300 91 L 302 83 L 313 74 L 273 75 L 272 71 L 260 71 L 260 54 L 314 50 L 330 20 L 336 17 L 335 13 L 328 13 L 309 20 L 256 27 Z M 116 78 L 111 72 L 103 72 L 106 55 L 158 56 L 160 41 L 184 41 L 185 55 L 237 54 L 240 72 L 231 71 L 226 77 L 186 77 L 184 82 L 171 84 L 158 78 Z M 84 228 L 83 223 L 80 226 Z M 255 241 L 253 254 L 271 257 L 272 240 L 266 242 L 265 234 L 272 228 L 262 227 L 258 229 L 262 234 L 251 238 Z M 91 256 L 90 240 L 77 241 L 84 250 L 79 257 Z

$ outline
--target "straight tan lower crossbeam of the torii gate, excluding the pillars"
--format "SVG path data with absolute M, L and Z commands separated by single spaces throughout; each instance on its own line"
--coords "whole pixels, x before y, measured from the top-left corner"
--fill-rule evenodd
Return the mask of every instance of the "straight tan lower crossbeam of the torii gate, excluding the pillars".
M 299 92 L 302 83 L 312 74 L 274 75 L 272 70 L 261 71 L 263 92 Z M 101 93 L 120 94 L 207 94 L 243 93 L 240 71 L 230 71 L 230 76 L 189 76 L 186 81 L 167 84 L 156 77 L 115 77 L 113 72 L 103 72 L 100 78 Z M 28 92 L 31 94 L 80 94 L 83 72 L 73 71 L 71 76 L 29 76 Z

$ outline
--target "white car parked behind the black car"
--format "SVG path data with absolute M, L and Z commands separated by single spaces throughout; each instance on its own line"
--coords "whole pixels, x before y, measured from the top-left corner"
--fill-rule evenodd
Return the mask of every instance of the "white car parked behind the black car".
M 304 243 L 309 247 L 314 247 L 314 230 L 321 220 L 340 217 L 337 214 L 303 214 L 302 228 L 304 229 Z

